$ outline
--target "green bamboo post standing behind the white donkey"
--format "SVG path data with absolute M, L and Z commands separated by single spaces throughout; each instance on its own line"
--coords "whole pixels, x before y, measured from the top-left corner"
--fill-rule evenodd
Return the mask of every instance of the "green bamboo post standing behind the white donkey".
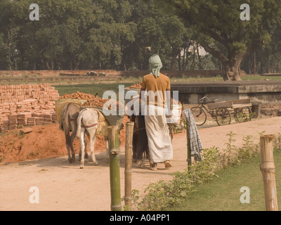
M 110 193 L 111 210 L 121 211 L 120 172 L 119 172 L 119 127 L 108 127 L 108 143 L 110 157 Z

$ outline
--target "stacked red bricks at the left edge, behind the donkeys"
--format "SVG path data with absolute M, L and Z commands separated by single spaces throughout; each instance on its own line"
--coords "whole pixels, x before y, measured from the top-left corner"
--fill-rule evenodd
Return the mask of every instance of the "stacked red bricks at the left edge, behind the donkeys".
M 58 122 L 51 84 L 0 86 L 0 130 Z

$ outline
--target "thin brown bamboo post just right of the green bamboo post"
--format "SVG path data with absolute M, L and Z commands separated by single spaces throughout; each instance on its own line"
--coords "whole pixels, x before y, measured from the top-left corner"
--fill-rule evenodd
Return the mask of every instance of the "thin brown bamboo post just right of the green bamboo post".
M 133 155 L 133 122 L 126 122 L 125 146 L 125 205 L 131 210 L 131 174 Z

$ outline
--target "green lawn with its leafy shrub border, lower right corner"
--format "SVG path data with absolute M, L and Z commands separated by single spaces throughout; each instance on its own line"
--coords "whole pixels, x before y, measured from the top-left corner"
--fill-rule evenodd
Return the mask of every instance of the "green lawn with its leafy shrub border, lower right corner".
M 189 170 L 175 172 L 171 181 L 158 181 L 145 188 L 145 196 L 138 205 L 139 210 L 264 210 L 262 174 L 259 145 L 253 136 L 242 140 L 237 148 L 235 135 L 230 131 L 226 148 L 202 150 L 202 161 L 194 162 Z M 274 140 L 275 162 L 280 162 L 280 134 Z M 279 163 L 276 171 L 280 171 Z M 276 176 L 279 181 L 280 174 Z M 242 204 L 240 188 L 250 190 L 250 203 Z M 278 193 L 278 191 L 277 191 Z M 279 194 L 280 195 L 280 194 Z M 280 195 L 281 197 L 281 195 Z

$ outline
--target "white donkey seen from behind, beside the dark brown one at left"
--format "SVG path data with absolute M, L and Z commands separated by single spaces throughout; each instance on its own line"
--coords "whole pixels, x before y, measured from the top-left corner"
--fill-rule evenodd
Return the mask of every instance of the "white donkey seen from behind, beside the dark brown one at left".
M 94 152 L 94 147 L 95 147 L 99 117 L 100 116 L 98 110 L 93 108 L 85 108 L 84 110 L 81 110 L 77 117 L 77 138 L 79 138 L 79 140 L 83 140 L 85 132 L 88 131 L 89 139 L 90 139 L 89 148 L 91 151 L 91 158 L 93 160 L 94 165 L 98 165 Z M 106 148 L 107 148 L 107 155 L 108 155 L 107 137 L 105 137 L 105 140 L 107 142 Z M 80 153 L 81 153 L 80 169 L 83 169 L 84 167 L 84 149 L 85 149 L 84 141 L 80 141 Z

